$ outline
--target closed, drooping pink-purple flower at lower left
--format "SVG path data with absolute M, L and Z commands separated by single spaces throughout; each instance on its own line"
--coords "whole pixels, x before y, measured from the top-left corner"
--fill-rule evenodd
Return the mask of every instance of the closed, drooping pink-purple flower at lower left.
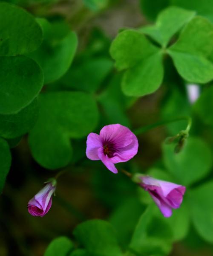
M 35 196 L 28 202 L 28 212 L 33 216 L 43 217 L 52 205 L 52 195 L 55 192 L 55 186 L 51 182 L 41 189 Z

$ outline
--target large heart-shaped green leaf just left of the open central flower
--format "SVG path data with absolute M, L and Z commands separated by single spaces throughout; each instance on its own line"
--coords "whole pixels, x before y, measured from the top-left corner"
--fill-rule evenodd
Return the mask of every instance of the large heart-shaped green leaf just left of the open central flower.
M 66 166 L 72 157 L 70 138 L 84 137 L 95 128 L 97 105 L 81 92 L 45 93 L 38 100 L 40 114 L 29 134 L 32 155 L 48 169 Z

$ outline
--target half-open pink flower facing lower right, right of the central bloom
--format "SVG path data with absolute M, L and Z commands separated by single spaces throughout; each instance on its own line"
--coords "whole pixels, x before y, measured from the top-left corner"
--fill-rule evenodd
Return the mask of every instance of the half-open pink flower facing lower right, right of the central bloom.
M 184 186 L 149 176 L 141 176 L 140 179 L 140 185 L 150 193 L 164 217 L 170 217 L 172 209 L 180 207 L 186 190 Z

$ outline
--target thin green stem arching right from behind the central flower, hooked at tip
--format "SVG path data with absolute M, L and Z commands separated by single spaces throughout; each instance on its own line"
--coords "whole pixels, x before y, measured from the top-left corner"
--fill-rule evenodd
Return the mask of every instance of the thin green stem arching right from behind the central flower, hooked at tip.
M 143 134 L 147 131 L 150 131 L 150 130 L 156 128 L 156 127 L 159 127 L 159 126 L 162 126 L 162 125 L 167 125 L 167 124 L 173 123 L 173 122 L 182 121 L 182 120 L 186 120 L 188 122 L 187 128 L 184 131 L 186 133 L 189 133 L 191 125 L 192 125 L 192 119 L 191 119 L 190 116 L 181 116 L 181 117 L 177 117 L 177 118 L 174 118 L 174 119 L 159 121 L 159 122 L 156 122 L 154 124 L 150 124 L 150 125 L 140 127 L 140 128 L 138 128 L 134 131 L 134 134 L 135 135 L 140 135 L 140 134 Z

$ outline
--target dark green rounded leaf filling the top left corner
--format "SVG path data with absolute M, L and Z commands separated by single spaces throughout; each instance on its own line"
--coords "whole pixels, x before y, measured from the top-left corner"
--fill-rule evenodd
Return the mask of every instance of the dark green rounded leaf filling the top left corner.
M 25 10 L 0 2 L 0 55 L 32 52 L 42 41 L 42 30 Z

